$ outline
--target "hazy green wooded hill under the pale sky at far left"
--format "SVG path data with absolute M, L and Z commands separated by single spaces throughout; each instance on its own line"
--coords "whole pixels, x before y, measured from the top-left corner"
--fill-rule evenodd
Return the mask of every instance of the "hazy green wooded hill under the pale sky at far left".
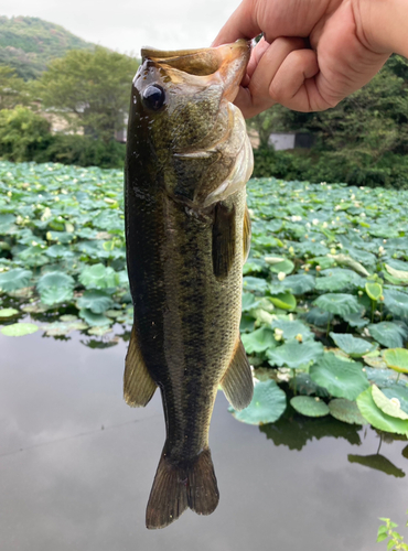
M 63 26 L 40 18 L 0 17 L 0 65 L 13 67 L 25 80 L 36 78 L 51 60 L 68 50 L 93 47 Z

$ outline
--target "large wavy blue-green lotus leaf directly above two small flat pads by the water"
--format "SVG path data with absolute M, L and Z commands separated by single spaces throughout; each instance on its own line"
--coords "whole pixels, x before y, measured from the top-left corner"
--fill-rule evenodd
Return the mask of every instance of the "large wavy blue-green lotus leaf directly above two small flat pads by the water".
M 333 353 L 324 354 L 309 372 L 316 385 L 336 398 L 355 400 L 369 386 L 362 364 L 343 360 Z

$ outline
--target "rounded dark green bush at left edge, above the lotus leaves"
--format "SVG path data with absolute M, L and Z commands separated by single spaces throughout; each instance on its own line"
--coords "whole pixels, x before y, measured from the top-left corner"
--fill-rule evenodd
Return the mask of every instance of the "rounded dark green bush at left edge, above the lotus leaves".
M 8 161 L 32 161 L 51 141 L 50 123 L 28 107 L 0 111 L 0 156 Z

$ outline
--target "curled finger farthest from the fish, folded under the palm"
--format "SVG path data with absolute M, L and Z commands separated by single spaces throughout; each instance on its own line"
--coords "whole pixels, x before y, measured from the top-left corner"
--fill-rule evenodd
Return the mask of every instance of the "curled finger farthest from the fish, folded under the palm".
M 312 50 L 291 52 L 276 72 L 269 86 L 271 99 L 296 111 L 321 111 L 332 107 L 316 85 L 319 64 Z

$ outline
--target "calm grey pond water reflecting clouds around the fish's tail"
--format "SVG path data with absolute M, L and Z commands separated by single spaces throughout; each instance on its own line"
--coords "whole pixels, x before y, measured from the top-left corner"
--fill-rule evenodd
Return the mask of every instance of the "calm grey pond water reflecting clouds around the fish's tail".
M 0 335 L 1 549 L 372 551 L 386 549 L 375 543 L 378 517 L 405 523 L 407 442 L 382 443 L 394 464 L 380 460 L 386 474 L 355 457 L 377 452 L 368 428 L 299 418 L 245 425 L 218 392 L 210 433 L 218 508 L 147 530 L 164 442 L 160 396 L 126 406 L 127 344 L 80 341 Z

